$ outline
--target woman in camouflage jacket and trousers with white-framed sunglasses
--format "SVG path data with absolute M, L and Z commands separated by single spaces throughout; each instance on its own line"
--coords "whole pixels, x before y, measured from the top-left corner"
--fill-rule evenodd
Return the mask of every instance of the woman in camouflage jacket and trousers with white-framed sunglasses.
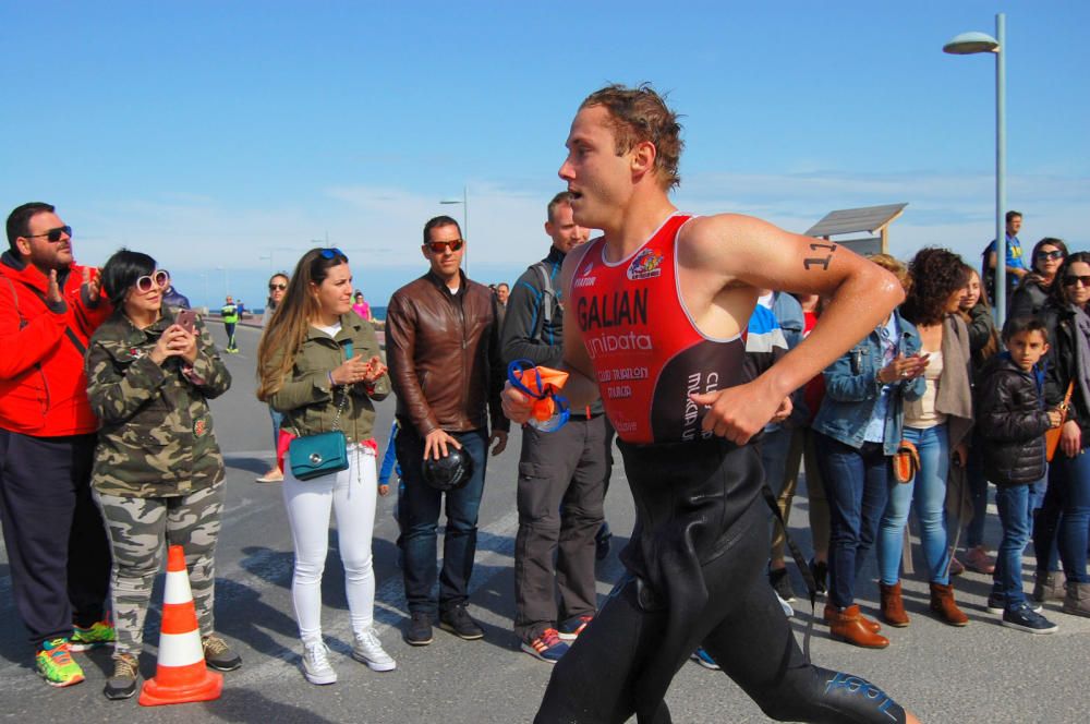
M 100 421 L 92 485 L 113 552 L 118 640 L 104 693 L 136 691 L 144 617 L 164 538 L 185 548 L 205 661 L 231 671 L 242 660 L 215 635 L 215 552 L 223 511 L 223 458 L 208 399 L 231 385 L 211 337 L 162 304 L 170 275 L 147 254 L 122 249 L 102 267 L 114 313 L 87 350 L 87 397 Z

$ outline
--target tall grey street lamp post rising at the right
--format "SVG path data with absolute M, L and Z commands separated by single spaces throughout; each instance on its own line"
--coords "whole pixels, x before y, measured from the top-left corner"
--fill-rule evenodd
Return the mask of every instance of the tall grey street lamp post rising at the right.
M 995 37 L 985 33 L 962 33 L 943 46 L 954 56 L 978 52 L 995 53 L 995 319 L 1000 328 L 1007 318 L 1007 230 L 1004 215 L 1007 205 L 1007 119 L 1006 46 L 1007 19 L 995 15 Z

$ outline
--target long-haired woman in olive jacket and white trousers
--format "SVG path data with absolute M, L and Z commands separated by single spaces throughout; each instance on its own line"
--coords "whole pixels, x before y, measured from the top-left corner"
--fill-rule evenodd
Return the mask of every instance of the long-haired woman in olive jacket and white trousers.
M 257 397 L 283 413 L 281 431 L 305 437 L 340 430 L 348 439 L 348 470 L 305 481 L 292 474 L 290 464 L 283 471 L 295 547 L 291 595 L 303 641 L 303 675 L 312 684 L 332 684 L 337 672 L 322 639 L 320 618 L 330 510 L 337 515 L 355 636 L 352 656 L 373 671 L 396 665 L 373 628 L 371 562 L 377 498 L 372 400 L 389 395 L 390 381 L 374 328 L 351 311 L 352 273 L 340 250 L 306 252 L 257 350 Z

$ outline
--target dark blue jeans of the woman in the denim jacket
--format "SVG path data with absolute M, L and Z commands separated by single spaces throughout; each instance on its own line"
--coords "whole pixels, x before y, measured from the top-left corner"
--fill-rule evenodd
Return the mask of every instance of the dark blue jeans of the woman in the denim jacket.
M 821 433 L 815 437 L 829 509 L 828 595 L 834 606 L 847 608 L 889 496 L 889 458 L 881 443 L 857 450 Z

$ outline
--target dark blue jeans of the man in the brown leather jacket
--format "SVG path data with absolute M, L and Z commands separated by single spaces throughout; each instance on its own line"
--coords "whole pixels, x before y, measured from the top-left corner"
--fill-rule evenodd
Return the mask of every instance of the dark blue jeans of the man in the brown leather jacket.
M 469 599 L 473 556 L 476 554 L 477 511 L 484 493 L 484 473 L 488 462 L 488 437 L 484 430 L 450 433 L 462 445 L 462 450 L 473 459 L 470 482 L 457 491 L 446 493 L 447 527 L 443 539 L 443 572 L 439 575 L 438 605 L 435 598 L 436 528 L 444 493 L 424 482 L 421 466 L 424 461 L 424 441 L 411 425 L 403 425 L 398 434 L 398 464 L 404 494 L 398 514 L 404 530 L 401 546 L 404 553 L 402 574 L 405 582 L 405 601 L 410 613 L 434 616 L 462 605 Z

